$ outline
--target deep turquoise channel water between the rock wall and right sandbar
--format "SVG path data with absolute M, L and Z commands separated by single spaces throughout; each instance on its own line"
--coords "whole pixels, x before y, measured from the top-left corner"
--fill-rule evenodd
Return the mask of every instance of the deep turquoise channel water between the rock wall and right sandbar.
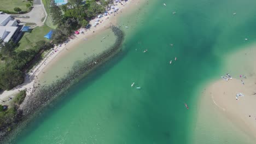
M 146 2 L 120 19 L 129 26 L 123 51 L 69 89 L 14 143 L 192 143 L 194 133 L 202 133 L 199 143 L 243 142 L 237 131 L 214 141 L 203 136 L 205 129 L 214 133 L 213 125 L 193 130 L 197 88 L 219 78 L 225 55 L 256 39 L 255 4 Z

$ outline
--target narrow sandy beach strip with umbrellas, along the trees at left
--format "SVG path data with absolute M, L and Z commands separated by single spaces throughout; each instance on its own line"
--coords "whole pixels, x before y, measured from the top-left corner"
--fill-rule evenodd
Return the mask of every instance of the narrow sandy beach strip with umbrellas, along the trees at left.
M 8 104 L 8 99 L 13 98 L 15 94 L 17 94 L 19 91 L 27 89 L 27 95 L 30 95 L 31 92 L 33 92 L 34 84 L 37 83 L 37 79 L 40 76 L 40 74 L 44 73 L 44 69 L 47 67 L 50 67 L 51 63 L 54 63 L 57 61 L 57 59 L 61 58 L 64 55 L 67 55 L 69 49 L 74 49 L 78 44 L 82 43 L 83 41 L 90 39 L 94 35 L 101 33 L 104 31 L 104 29 L 109 28 L 110 25 L 119 25 L 117 23 L 117 19 L 122 13 L 130 13 L 132 12 L 133 8 L 135 8 L 135 5 L 138 7 L 139 4 L 143 3 L 144 1 L 139 0 L 130 0 L 127 2 L 114 2 L 114 8 L 119 9 L 117 12 L 114 12 L 112 14 L 108 14 L 107 16 L 104 16 L 100 18 L 100 21 L 98 22 L 98 25 L 96 27 L 91 26 L 90 29 L 80 28 L 78 31 L 80 34 L 75 34 L 75 37 L 72 39 L 69 39 L 66 41 L 66 43 L 63 43 L 61 45 L 55 46 L 52 51 L 49 51 L 44 56 L 44 59 L 36 66 L 34 67 L 29 74 L 25 77 L 25 82 L 22 83 L 22 85 L 19 85 L 10 91 L 4 91 L 0 95 L 0 99 L 5 101 L 0 101 L 0 104 Z M 113 11 L 113 10 L 110 10 Z M 94 20 L 90 21 L 91 25 L 94 25 L 98 17 L 96 17 Z M 129 28 L 128 26 L 123 26 L 126 28 Z M 83 34 L 84 33 L 84 34 Z

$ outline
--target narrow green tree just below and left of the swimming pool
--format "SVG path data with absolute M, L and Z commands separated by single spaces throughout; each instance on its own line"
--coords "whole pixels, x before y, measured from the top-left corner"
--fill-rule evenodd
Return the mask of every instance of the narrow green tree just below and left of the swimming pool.
M 51 0 L 50 15 L 53 18 L 54 25 L 59 25 L 62 20 L 61 9 L 56 5 L 54 0 Z

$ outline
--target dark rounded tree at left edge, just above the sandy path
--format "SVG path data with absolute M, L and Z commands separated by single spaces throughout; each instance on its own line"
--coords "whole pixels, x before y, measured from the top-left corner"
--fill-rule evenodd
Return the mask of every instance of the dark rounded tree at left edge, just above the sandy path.
M 0 70 L 0 87 L 2 89 L 11 89 L 20 85 L 24 81 L 23 74 L 20 70 L 11 67 L 4 67 Z

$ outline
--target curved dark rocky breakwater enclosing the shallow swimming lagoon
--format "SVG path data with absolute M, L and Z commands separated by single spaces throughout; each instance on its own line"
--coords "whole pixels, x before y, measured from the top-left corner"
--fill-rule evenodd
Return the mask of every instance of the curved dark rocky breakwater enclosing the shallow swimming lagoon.
M 110 28 L 117 37 L 114 45 L 109 47 L 109 49 L 104 51 L 101 55 L 90 57 L 85 61 L 78 63 L 65 77 L 51 83 L 51 85 L 35 86 L 31 94 L 27 95 L 23 103 L 19 106 L 19 115 L 17 116 L 19 116 L 20 122 L 12 125 L 13 128 L 19 125 L 22 125 L 21 127 L 25 128 L 26 124 L 29 121 L 33 121 L 33 117 L 37 116 L 38 113 L 44 109 L 44 107 L 51 103 L 51 101 L 54 101 L 61 95 L 64 95 L 64 93 L 68 91 L 68 88 L 74 83 L 77 83 L 86 74 L 90 73 L 94 68 L 101 65 L 103 62 L 106 62 L 109 58 L 113 57 L 121 50 L 121 45 L 124 41 L 124 32 L 121 31 L 120 28 L 113 25 L 110 26 Z M 19 134 L 19 131 L 20 129 L 16 131 L 0 131 L 0 133 L 2 132 L 0 141 L 6 141 L 7 139 L 10 141 L 10 137 L 7 135 L 10 134 L 12 135 L 11 137 L 14 137 L 14 135 Z

